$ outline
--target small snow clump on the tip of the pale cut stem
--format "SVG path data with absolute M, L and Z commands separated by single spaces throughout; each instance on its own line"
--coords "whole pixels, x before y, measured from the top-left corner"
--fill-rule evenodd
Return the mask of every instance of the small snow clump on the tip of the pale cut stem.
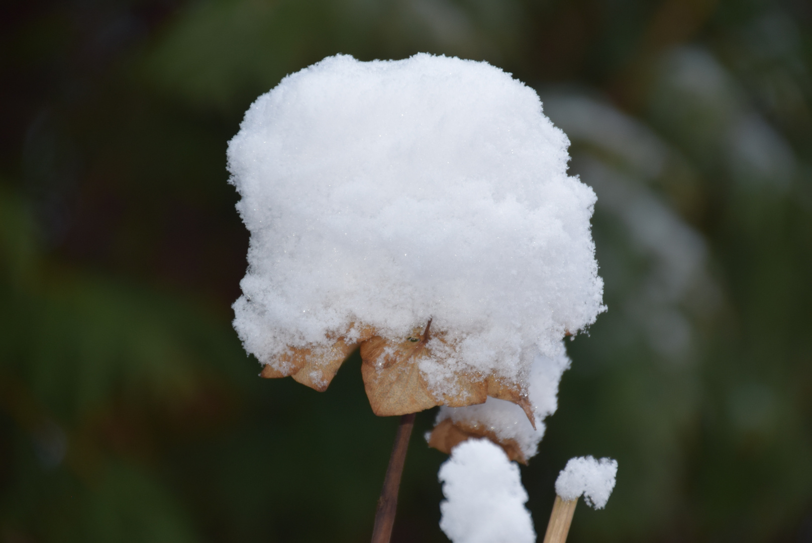
M 555 493 L 569 501 L 584 495 L 587 505 L 603 509 L 615 488 L 617 460 L 591 456 L 570 458 L 555 480 Z

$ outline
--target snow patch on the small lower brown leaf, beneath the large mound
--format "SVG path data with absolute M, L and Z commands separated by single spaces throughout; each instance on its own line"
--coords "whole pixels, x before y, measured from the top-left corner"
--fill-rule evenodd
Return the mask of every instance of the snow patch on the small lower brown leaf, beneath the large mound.
M 544 419 L 555 413 L 561 374 L 569 367 L 570 360 L 564 350 L 564 342 L 552 357 L 538 355 L 533 360 L 529 375 L 529 396 L 533 405 L 536 428 L 515 403 L 489 397 L 487 402 L 468 407 L 440 407 L 436 424 L 444 419 L 463 424 L 469 428 L 482 428 L 494 432 L 500 441 L 513 440 L 519 445 L 525 458 L 535 456 L 538 442 L 544 437 Z

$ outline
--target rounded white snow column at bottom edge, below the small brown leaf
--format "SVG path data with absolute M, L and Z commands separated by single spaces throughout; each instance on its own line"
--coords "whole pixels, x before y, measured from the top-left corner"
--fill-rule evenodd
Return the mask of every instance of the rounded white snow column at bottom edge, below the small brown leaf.
M 440 528 L 453 543 L 534 543 L 519 467 L 486 439 L 464 441 L 440 467 Z

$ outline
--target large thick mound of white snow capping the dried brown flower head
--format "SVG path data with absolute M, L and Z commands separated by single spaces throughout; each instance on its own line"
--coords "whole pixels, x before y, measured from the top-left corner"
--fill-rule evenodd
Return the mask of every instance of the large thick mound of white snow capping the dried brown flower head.
M 444 332 L 453 355 L 421 361 L 432 389 L 460 371 L 526 380 L 603 311 L 595 196 L 567 148 L 533 89 L 488 63 L 337 55 L 287 76 L 228 146 L 251 233 L 245 349 L 269 363 L 353 324 L 401 341 L 433 318 L 430 349 Z

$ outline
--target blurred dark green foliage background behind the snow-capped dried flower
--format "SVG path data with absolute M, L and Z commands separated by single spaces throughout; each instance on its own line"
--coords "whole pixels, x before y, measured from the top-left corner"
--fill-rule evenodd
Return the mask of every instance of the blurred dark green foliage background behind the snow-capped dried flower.
M 261 380 L 225 150 L 324 56 L 485 59 L 598 193 L 609 311 L 522 469 L 620 462 L 570 541 L 812 541 L 812 3 L 17 0 L 0 7 L 0 541 L 369 541 L 395 419 L 353 357 Z M 417 417 L 394 543 L 447 541 Z

